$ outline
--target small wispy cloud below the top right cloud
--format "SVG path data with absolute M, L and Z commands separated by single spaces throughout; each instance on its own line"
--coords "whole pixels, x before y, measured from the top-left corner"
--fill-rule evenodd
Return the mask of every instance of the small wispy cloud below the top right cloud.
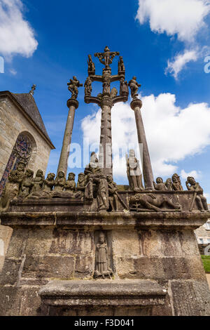
M 184 53 L 179 53 L 176 55 L 174 60 L 168 60 L 168 66 L 165 70 L 165 73 L 168 72 L 172 74 L 172 76 L 177 80 L 179 72 L 186 67 L 187 63 L 190 61 L 195 62 L 199 58 L 199 53 L 197 51 L 187 51 L 185 50 Z

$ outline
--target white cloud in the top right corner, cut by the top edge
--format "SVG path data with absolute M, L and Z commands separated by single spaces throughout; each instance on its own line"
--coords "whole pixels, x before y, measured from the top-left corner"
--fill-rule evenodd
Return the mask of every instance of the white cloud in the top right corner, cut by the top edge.
M 191 42 L 209 12 L 208 0 L 139 0 L 137 19 L 141 24 L 149 21 L 153 32 Z

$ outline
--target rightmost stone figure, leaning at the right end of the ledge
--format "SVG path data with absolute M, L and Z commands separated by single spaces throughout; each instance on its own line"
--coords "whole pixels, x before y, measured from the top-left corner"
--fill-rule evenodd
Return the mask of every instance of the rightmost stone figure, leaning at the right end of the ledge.
M 193 204 L 196 201 L 197 206 L 200 209 L 200 211 L 208 211 L 208 205 L 207 205 L 207 199 L 204 197 L 204 190 L 200 186 L 199 183 L 195 181 L 195 178 L 193 176 L 188 176 L 187 181 L 186 181 L 186 187 L 188 188 L 189 191 L 194 191 L 194 197 L 193 197 L 193 203 L 192 203 L 192 209 L 193 209 Z

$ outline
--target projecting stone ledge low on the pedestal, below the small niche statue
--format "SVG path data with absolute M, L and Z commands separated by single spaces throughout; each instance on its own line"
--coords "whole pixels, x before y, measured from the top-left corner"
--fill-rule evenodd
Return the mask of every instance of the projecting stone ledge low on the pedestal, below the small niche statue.
M 52 281 L 38 292 L 45 305 L 56 307 L 164 305 L 167 290 L 151 280 Z

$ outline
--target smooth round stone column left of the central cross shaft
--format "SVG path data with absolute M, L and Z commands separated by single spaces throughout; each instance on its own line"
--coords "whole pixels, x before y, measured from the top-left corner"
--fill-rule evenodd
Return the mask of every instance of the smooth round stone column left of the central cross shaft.
M 75 110 L 78 108 L 78 100 L 69 99 L 67 101 L 67 107 L 69 107 L 69 114 L 66 121 L 66 129 L 64 133 L 64 140 L 62 145 L 62 152 L 59 157 L 59 165 L 57 168 L 57 173 L 59 171 L 64 171 L 65 176 L 68 167 L 68 159 L 69 159 L 69 152 L 70 152 L 70 145 L 71 145 L 71 136 L 73 131 L 73 121 Z

